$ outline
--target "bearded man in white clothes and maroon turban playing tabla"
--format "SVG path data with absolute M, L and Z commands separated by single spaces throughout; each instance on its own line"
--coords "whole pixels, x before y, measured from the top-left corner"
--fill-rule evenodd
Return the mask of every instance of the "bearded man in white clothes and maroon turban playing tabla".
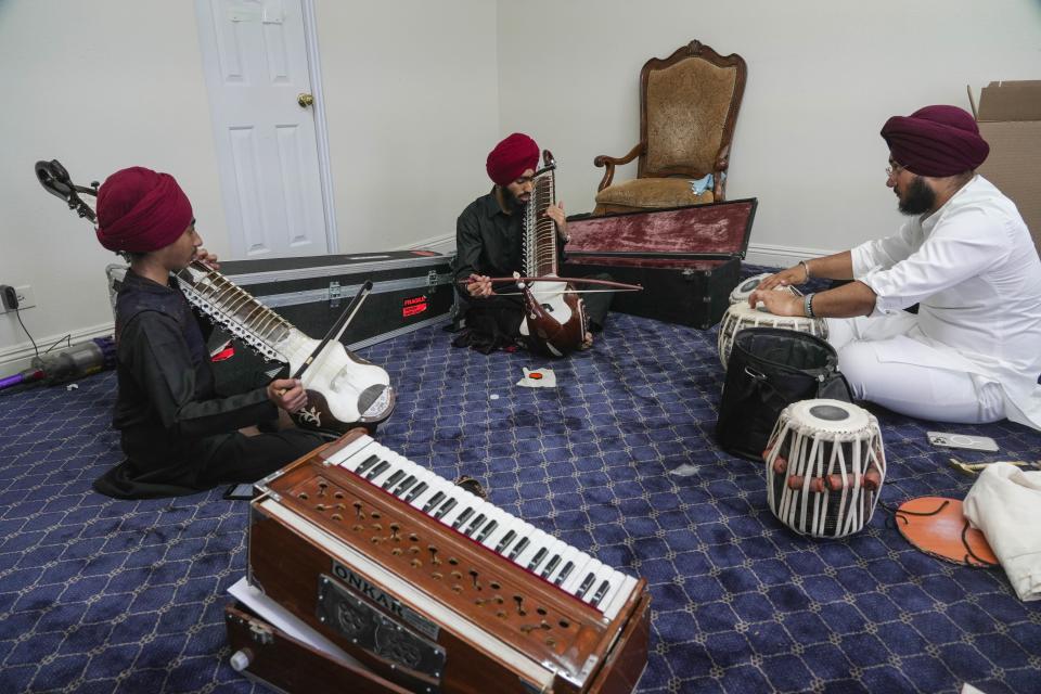
M 926 420 L 1041 429 L 1041 260 L 1015 204 L 975 172 L 990 151 L 955 106 L 886 121 L 900 231 L 804 260 L 749 303 L 827 318 L 857 398 Z M 809 278 L 853 282 L 793 297 Z M 918 305 L 917 314 L 902 309 Z M 846 320 L 843 320 L 846 319 Z

